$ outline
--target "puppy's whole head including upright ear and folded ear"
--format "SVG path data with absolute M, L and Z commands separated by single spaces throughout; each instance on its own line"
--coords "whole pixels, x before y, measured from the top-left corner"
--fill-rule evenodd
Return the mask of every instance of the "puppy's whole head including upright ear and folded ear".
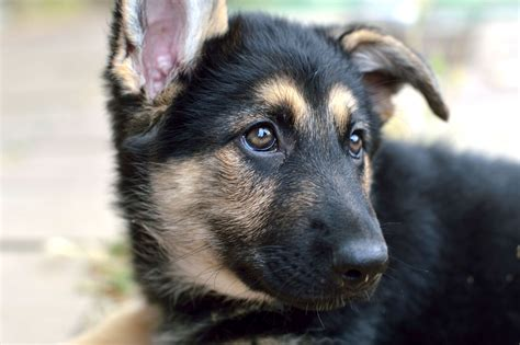
M 371 27 L 227 18 L 224 1 L 121 0 L 106 78 L 120 195 L 151 296 L 301 308 L 366 296 L 387 249 L 371 157 L 405 82 L 430 69 Z

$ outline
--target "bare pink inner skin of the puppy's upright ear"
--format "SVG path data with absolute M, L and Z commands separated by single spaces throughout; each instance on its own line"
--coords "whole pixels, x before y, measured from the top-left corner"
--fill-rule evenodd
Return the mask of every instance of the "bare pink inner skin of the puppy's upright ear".
M 179 68 L 186 16 L 180 0 L 146 1 L 143 43 L 145 89 L 150 99 L 161 92 Z

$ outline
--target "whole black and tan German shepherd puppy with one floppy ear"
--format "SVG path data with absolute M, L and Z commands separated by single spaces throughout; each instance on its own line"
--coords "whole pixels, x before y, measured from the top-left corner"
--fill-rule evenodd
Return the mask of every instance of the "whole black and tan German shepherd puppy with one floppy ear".
M 110 46 L 156 343 L 518 344 L 520 168 L 381 140 L 404 83 L 449 115 L 410 48 L 224 0 L 118 0 Z

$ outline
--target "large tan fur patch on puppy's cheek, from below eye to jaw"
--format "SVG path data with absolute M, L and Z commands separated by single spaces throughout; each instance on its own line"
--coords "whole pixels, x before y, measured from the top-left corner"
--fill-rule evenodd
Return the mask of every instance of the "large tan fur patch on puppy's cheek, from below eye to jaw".
M 251 301 L 270 300 L 251 291 L 224 267 L 217 254 L 218 241 L 207 223 L 210 215 L 227 215 L 242 225 L 237 237 L 255 235 L 268 207 L 270 188 L 253 186 L 252 172 L 242 166 L 236 153 L 226 150 L 216 158 L 172 160 L 151 173 L 154 204 L 160 228 L 166 229 L 152 235 L 170 254 L 171 275 L 177 281 Z M 207 173 L 214 170 L 223 179 L 218 182 L 221 191 L 215 189 L 215 177 Z

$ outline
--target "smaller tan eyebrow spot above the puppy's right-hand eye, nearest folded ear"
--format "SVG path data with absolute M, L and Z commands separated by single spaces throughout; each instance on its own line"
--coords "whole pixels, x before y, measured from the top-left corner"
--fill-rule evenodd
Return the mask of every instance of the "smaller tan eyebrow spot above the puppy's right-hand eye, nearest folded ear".
M 336 126 L 340 133 L 347 129 L 350 116 L 358 108 L 358 101 L 352 91 L 342 84 L 336 84 L 330 89 L 328 97 L 328 110 L 332 114 Z

